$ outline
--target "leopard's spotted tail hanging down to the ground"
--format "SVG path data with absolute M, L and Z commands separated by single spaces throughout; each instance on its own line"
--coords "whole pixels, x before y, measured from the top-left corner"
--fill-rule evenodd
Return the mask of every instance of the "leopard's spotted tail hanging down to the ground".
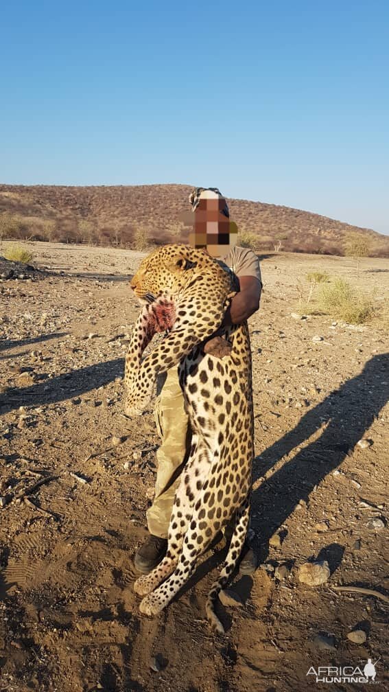
M 250 498 L 246 498 L 242 506 L 237 510 L 233 536 L 231 538 L 230 547 L 228 548 L 228 553 L 224 563 L 221 565 L 219 579 L 212 584 L 206 601 L 206 616 L 210 622 L 212 630 L 219 632 L 219 634 L 224 634 L 224 627 L 215 613 L 216 599 L 221 590 L 224 589 L 226 583 L 228 583 L 231 574 L 235 570 L 237 561 L 239 560 L 239 555 L 241 554 L 244 546 L 249 520 Z

